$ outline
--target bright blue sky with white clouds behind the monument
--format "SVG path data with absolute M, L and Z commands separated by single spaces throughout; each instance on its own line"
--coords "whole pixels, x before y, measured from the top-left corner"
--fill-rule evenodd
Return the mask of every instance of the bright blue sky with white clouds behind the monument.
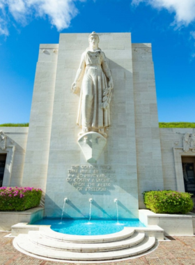
M 29 122 L 40 43 L 91 31 L 152 43 L 159 121 L 195 122 L 195 0 L 0 0 L 0 124 Z

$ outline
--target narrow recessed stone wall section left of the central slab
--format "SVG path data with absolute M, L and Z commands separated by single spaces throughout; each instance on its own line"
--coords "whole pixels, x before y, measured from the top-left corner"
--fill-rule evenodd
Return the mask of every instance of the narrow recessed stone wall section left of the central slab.
M 58 44 L 41 44 L 36 67 L 23 186 L 45 192 L 52 126 Z

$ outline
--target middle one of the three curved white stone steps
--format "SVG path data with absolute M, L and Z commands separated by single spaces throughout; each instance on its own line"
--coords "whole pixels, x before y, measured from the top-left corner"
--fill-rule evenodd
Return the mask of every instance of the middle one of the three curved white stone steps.
M 64 241 L 54 241 L 52 239 L 42 238 L 38 233 L 29 232 L 29 241 L 36 245 L 52 248 L 61 251 L 72 252 L 104 252 L 122 250 L 138 245 L 143 241 L 144 233 L 134 233 L 129 239 L 123 241 L 114 241 L 109 243 L 70 243 Z

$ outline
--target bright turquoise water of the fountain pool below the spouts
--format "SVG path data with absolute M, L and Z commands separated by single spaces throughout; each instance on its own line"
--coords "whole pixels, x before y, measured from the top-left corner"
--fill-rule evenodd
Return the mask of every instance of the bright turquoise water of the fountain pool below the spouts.
M 120 232 L 124 227 L 145 227 L 139 219 L 120 220 L 86 220 L 86 219 L 49 219 L 44 218 L 32 225 L 51 225 L 55 232 L 80 236 L 95 236 Z

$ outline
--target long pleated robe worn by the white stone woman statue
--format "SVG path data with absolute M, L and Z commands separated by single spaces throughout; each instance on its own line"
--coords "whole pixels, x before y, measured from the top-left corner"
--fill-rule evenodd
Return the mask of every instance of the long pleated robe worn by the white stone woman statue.
M 102 109 L 104 89 L 108 87 L 107 77 L 111 72 L 107 59 L 100 49 L 95 52 L 86 50 L 81 56 L 80 68 L 83 77 L 77 124 L 83 129 L 99 130 L 110 125 L 110 110 Z M 106 77 L 107 76 L 107 77 Z

